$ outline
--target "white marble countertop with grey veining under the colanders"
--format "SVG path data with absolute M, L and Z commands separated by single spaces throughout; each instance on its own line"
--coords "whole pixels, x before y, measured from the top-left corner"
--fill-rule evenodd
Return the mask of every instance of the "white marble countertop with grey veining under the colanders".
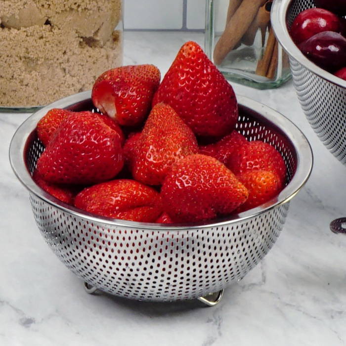
M 201 33 L 127 32 L 124 64 L 152 63 L 164 74 L 188 40 L 204 44 Z M 292 120 L 311 144 L 314 167 L 274 247 L 214 307 L 88 295 L 44 243 L 9 164 L 11 137 L 29 115 L 0 113 L 1 346 L 346 345 L 346 236 L 329 230 L 346 216 L 346 167 L 311 130 L 292 82 L 232 86 Z

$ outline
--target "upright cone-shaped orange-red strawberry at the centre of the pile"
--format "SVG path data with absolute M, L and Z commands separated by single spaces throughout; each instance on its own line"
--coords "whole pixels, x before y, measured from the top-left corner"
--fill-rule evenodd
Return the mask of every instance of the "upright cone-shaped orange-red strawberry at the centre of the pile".
M 137 139 L 130 170 L 135 180 L 160 185 L 173 162 L 197 152 L 197 140 L 191 129 L 171 106 L 159 103 L 153 107 Z

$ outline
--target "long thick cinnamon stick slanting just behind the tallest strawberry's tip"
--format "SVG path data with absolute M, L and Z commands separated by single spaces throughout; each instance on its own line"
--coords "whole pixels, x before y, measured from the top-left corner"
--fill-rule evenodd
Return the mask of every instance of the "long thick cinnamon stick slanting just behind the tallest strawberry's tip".
M 225 26 L 214 48 L 214 63 L 219 65 L 243 37 L 266 0 L 243 0 Z

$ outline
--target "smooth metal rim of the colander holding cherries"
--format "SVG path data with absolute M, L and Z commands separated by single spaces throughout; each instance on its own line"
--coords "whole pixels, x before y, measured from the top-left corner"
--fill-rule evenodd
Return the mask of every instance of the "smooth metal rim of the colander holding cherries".
M 297 45 L 293 42 L 287 28 L 287 13 L 292 2 L 298 0 L 275 0 L 273 1 L 270 10 L 270 22 L 273 28 L 274 35 L 286 53 L 301 64 L 308 71 L 314 73 L 318 77 L 335 84 L 339 87 L 346 88 L 346 81 L 334 76 L 311 62 L 300 51 Z

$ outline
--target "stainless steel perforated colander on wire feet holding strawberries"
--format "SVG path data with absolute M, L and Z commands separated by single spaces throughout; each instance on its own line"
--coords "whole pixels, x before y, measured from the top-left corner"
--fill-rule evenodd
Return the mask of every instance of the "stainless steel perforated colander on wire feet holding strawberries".
M 44 149 L 36 136 L 37 122 L 51 108 L 93 110 L 89 92 L 44 107 L 18 128 L 9 151 L 13 171 L 29 190 L 43 238 L 84 280 L 87 292 L 97 289 L 134 300 L 200 299 L 214 304 L 226 286 L 242 279 L 268 253 L 283 228 L 290 200 L 310 175 L 312 152 L 303 133 L 288 119 L 256 101 L 237 98 L 237 130 L 279 150 L 287 166 L 287 186 L 263 206 L 204 224 L 100 218 L 56 200 L 33 182 L 31 174 Z M 211 295 L 216 299 L 210 300 Z

